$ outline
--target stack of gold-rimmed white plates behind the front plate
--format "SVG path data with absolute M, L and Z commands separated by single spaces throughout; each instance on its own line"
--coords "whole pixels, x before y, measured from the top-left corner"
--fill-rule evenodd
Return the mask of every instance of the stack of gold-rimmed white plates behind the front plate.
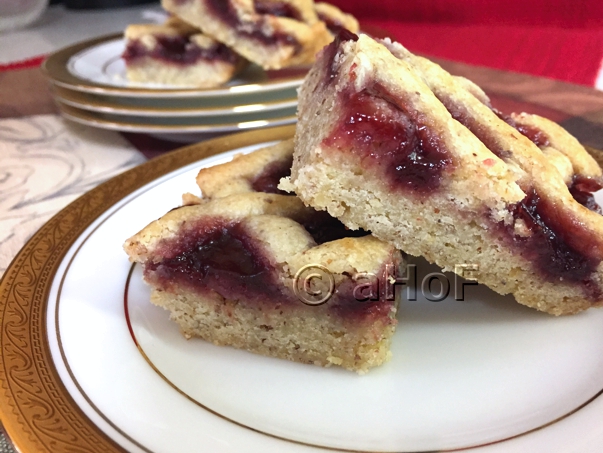
M 61 113 L 78 123 L 127 132 L 223 133 L 296 121 L 297 88 L 308 67 L 264 71 L 250 65 L 214 89 L 135 84 L 125 76 L 122 35 L 51 55 L 43 69 Z

